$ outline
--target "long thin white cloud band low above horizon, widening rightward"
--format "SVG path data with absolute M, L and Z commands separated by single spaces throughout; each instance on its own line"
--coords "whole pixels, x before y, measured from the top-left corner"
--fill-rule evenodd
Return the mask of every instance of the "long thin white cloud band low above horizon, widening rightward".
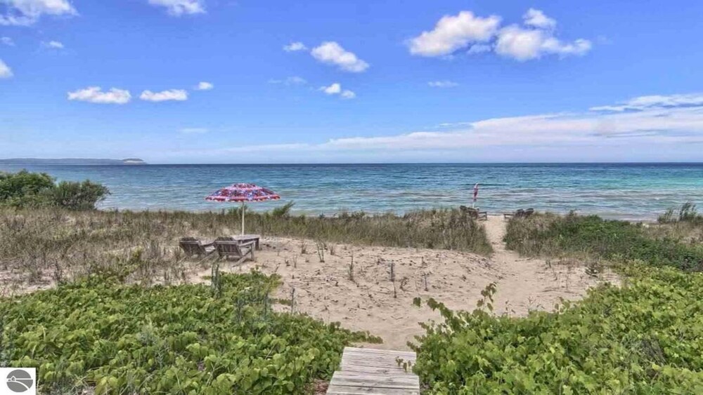
M 333 90 L 337 91 L 337 88 Z M 314 155 L 328 157 L 326 154 L 335 158 L 340 155 L 358 158 L 368 152 L 382 154 L 384 158 L 408 152 L 457 155 L 465 154 L 466 149 L 473 152 L 477 147 L 517 147 L 521 151 L 541 147 L 562 151 L 566 147 L 598 147 L 597 151 L 608 148 L 617 153 L 621 152 L 622 147 L 631 152 L 635 145 L 650 150 L 651 147 L 662 144 L 702 144 L 703 102 L 695 99 L 696 97 L 702 98 L 703 95 L 635 98 L 631 101 L 647 106 L 638 112 L 509 116 L 448 125 L 456 126 L 453 130 L 417 131 L 382 137 L 336 138 L 316 144 L 301 142 L 252 145 L 232 147 L 226 149 L 226 152 L 252 154 L 252 158 L 264 152 L 270 158 L 295 154 L 299 155 L 300 159 L 311 160 Z M 672 104 L 679 107 L 667 107 Z M 493 154 L 495 152 L 491 151 L 491 155 Z M 489 156 L 489 159 L 491 157 Z

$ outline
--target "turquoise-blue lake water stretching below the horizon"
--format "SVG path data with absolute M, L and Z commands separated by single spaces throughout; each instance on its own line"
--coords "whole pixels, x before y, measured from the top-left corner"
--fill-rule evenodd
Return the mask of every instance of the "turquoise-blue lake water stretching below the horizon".
M 309 214 L 470 205 L 476 182 L 477 206 L 489 213 L 534 207 L 650 220 L 686 201 L 703 203 L 703 163 L 0 166 L 21 168 L 102 182 L 112 194 L 101 208 L 134 210 L 220 210 L 228 203 L 204 198 L 233 182 L 282 196 L 253 203 L 255 210 L 295 201 Z

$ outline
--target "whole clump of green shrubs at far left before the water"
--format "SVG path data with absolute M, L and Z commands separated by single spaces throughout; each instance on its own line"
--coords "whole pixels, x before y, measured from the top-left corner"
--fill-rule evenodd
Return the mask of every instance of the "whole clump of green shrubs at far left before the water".
M 85 180 L 56 185 L 46 173 L 0 173 L 0 205 L 16 208 L 58 206 L 69 210 L 94 210 L 110 194 L 107 187 Z

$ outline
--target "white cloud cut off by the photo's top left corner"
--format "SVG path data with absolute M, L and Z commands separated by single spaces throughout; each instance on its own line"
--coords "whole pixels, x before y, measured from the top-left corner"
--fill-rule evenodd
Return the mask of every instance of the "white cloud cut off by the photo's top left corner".
M 78 15 L 67 0 L 0 0 L 5 13 L 0 15 L 0 25 L 29 26 L 42 15 Z

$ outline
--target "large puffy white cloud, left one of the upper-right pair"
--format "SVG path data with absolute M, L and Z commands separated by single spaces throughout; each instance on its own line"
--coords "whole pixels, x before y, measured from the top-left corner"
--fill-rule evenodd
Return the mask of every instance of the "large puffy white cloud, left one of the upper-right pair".
M 471 11 L 444 15 L 434 29 L 408 41 L 410 53 L 430 57 L 450 55 L 471 43 L 490 41 L 500 24 L 501 18 L 496 15 L 481 18 Z

